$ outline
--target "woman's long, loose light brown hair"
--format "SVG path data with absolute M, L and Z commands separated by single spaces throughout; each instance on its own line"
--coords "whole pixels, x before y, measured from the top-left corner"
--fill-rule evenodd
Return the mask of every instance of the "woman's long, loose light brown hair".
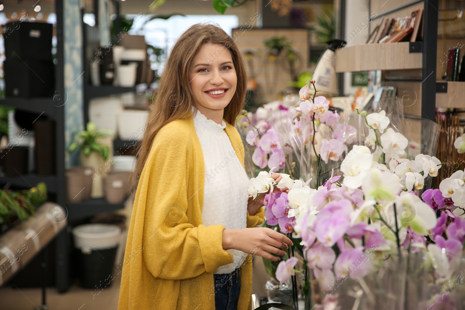
M 212 24 L 195 24 L 179 37 L 166 61 L 159 87 L 153 94 L 144 136 L 136 150 L 137 163 L 130 177 L 131 184 L 137 185 L 139 182 L 153 139 L 159 130 L 173 120 L 192 118 L 191 109 L 197 107 L 197 104 L 189 83 L 189 68 L 200 47 L 206 43 L 222 44 L 232 55 L 237 86 L 233 99 L 225 107 L 223 118 L 229 124 L 235 124 L 246 98 L 247 72 L 244 60 L 234 40 L 223 29 Z

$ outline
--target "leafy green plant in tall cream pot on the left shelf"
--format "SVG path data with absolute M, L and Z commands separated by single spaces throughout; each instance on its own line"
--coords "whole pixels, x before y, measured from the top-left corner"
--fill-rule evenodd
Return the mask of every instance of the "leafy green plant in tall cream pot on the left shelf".
M 99 129 L 93 122 L 88 122 L 86 130 L 74 133 L 73 143 L 68 148 L 70 153 L 79 149 L 81 164 L 94 170 L 92 198 L 103 197 L 103 181 L 101 177 L 110 168 L 110 163 L 107 160 L 113 148 L 113 135 L 113 131 Z

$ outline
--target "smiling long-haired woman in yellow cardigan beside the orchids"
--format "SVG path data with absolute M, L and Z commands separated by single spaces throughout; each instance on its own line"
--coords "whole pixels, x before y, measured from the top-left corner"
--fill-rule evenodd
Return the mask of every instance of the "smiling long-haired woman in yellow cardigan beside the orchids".
M 292 244 L 254 227 L 264 195 L 247 198 L 234 128 L 246 81 L 237 46 L 217 26 L 191 26 L 173 46 L 132 176 L 119 310 L 250 309 L 252 255 L 277 261 L 269 252 Z

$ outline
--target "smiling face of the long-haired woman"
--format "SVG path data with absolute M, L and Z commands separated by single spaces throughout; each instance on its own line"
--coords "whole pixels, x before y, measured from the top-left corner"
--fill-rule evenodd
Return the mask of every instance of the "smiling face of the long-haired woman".
M 204 44 L 189 69 L 189 81 L 200 112 L 221 111 L 236 92 L 233 57 L 222 44 Z

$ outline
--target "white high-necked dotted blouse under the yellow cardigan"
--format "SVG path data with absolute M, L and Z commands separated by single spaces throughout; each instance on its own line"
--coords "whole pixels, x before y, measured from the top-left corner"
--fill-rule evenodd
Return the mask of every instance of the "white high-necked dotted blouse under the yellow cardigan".
M 224 130 L 226 123 L 222 121 L 219 125 L 197 111 L 194 126 L 205 161 L 204 225 L 246 228 L 249 179 Z M 234 262 L 218 267 L 213 273 L 230 273 L 244 263 L 247 253 L 239 250 L 228 252 L 233 254 Z

